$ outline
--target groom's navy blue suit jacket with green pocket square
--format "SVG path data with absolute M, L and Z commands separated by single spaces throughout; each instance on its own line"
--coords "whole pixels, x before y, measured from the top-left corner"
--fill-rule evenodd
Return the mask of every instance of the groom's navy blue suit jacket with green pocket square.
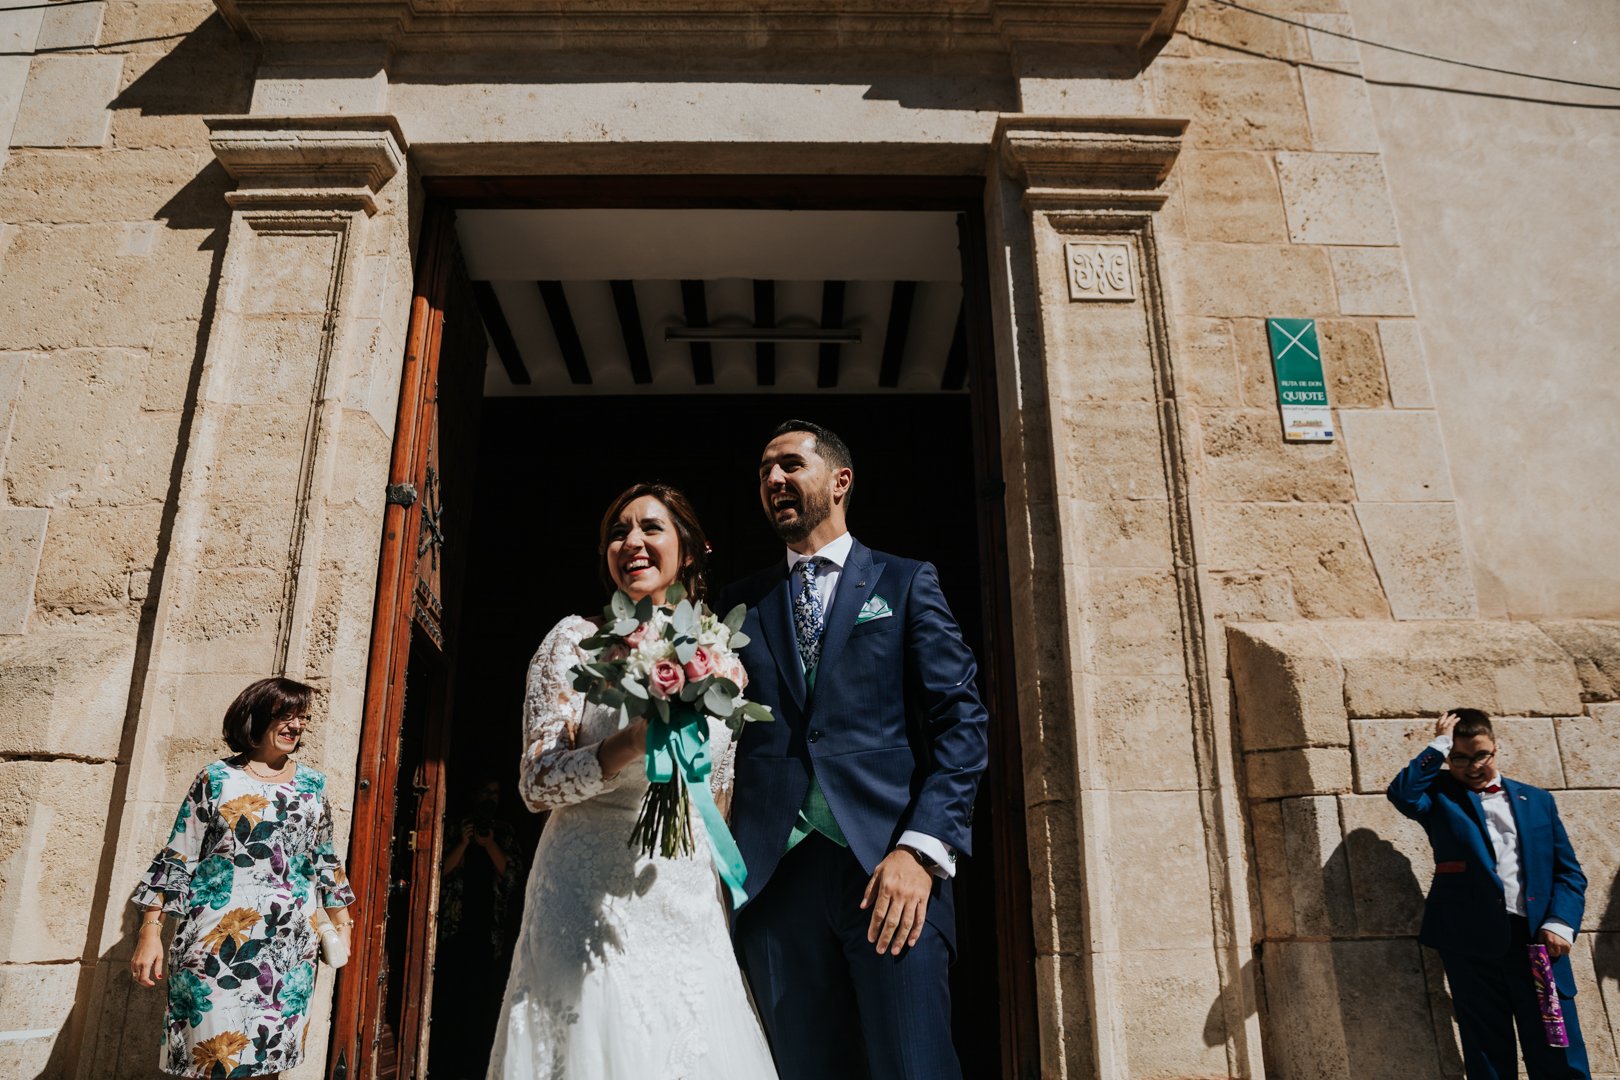
M 872 597 L 893 615 L 855 625 Z M 748 724 L 737 745 L 732 832 L 760 895 L 784 855 L 815 771 L 828 806 L 870 874 L 907 829 L 972 850 L 972 811 L 988 764 L 988 716 L 977 665 L 932 563 L 850 547 L 821 631 L 815 693 L 794 636 L 786 559 L 729 586 L 724 614 L 748 606 L 747 696 L 776 721 Z M 956 941 L 949 881 L 928 921 Z

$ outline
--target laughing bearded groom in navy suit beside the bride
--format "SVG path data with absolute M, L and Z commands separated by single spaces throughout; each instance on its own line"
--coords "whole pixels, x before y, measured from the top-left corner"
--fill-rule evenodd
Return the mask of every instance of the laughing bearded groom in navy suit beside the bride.
M 719 606 L 748 606 L 747 693 L 776 714 L 737 748 L 737 950 L 782 1080 L 949 1080 L 951 878 L 988 717 L 935 568 L 849 534 L 854 478 L 836 434 L 781 424 L 760 500 L 786 559 Z

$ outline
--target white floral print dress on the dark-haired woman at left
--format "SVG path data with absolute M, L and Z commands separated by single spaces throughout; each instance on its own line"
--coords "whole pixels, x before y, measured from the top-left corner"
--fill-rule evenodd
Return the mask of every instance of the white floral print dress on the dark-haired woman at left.
M 303 1059 L 316 908 L 355 902 L 332 850 L 324 774 L 300 764 L 274 782 L 237 759 L 207 766 L 131 899 L 180 916 L 164 1072 L 259 1077 Z

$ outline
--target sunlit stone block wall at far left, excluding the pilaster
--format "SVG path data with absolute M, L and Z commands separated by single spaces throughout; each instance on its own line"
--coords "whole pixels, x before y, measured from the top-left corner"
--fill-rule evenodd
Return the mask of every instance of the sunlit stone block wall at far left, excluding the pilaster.
M 246 108 L 251 57 L 206 2 L 0 11 L 0 1075 L 36 1077 L 133 938 L 109 826 L 230 217 L 201 113 Z M 154 1030 L 160 991 L 130 1007 Z

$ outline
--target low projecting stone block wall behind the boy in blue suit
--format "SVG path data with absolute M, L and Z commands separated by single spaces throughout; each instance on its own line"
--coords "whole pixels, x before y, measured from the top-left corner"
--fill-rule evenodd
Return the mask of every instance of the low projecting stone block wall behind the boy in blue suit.
M 1620 623 L 1234 623 L 1228 644 L 1267 1075 L 1461 1075 L 1418 944 L 1434 857 L 1383 795 L 1453 706 L 1497 717 L 1502 772 L 1558 800 L 1588 878 L 1581 1027 L 1620 1075 Z

